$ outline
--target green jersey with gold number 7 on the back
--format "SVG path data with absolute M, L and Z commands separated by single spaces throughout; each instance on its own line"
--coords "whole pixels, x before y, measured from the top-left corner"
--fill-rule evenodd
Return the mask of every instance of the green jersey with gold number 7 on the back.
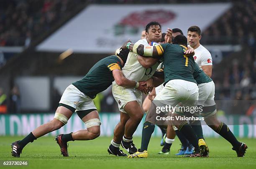
M 193 56 L 185 56 L 186 46 L 178 44 L 161 44 L 164 49 L 164 85 L 173 79 L 182 79 L 197 83 L 193 77 L 195 61 Z

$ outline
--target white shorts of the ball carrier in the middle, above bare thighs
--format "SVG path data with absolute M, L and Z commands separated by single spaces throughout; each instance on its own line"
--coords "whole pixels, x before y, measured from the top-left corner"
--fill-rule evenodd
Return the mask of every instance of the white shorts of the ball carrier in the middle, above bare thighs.
M 124 110 L 125 105 L 130 101 L 138 101 L 141 106 L 142 103 L 142 92 L 134 88 L 125 88 L 118 86 L 116 83 L 112 84 L 112 94 L 118 103 L 119 111 L 127 113 Z

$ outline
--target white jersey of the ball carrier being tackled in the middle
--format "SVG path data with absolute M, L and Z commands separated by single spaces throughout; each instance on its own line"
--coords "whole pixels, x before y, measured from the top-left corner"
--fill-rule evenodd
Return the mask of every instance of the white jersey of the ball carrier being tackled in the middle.
M 138 40 L 135 44 L 142 44 L 148 46 L 146 39 Z M 122 72 L 125 78 L 131 81 L 146 81 L 153 76 L 159 63 L 156 63 L 151 68 L 144 68 L 137 60 L 137 54 L 130 51 L 128 54 L 127 61 L 122 68 Z

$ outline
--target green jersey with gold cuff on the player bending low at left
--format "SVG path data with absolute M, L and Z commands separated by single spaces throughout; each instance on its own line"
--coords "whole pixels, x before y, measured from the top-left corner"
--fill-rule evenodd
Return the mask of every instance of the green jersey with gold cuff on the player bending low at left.
M 116 55 L 108 56 L 92 66 L 81 80 L 72 84 L 90 98 L 95 98 L 97 93 L 105 91 L 112 84 L 114 77 L 111 71 L 115 69 L 121 70 L 120 59 Z

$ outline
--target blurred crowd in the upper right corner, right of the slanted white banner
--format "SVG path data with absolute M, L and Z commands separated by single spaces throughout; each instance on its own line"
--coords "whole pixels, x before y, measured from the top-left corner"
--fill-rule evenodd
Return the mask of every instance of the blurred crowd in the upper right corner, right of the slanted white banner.
M 203 32 L 207 44 L 247 44 L 256 38 L 256 1 L 233 1 L 230 10 Z M 222 38 L 220 38 L 220 36 Z

